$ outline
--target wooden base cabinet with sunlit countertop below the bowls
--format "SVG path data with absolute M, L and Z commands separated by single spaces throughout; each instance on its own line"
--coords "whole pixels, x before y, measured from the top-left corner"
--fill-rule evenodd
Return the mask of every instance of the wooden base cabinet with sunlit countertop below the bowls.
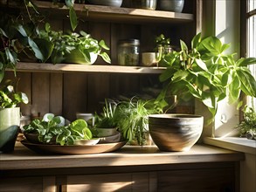
M 0 154 L 0 191 L 238 192 L 243 153 L 195 145 L 188 152 L 121 147 L 113 153 Z M 18 189 L 18 190 L 17 190 Z

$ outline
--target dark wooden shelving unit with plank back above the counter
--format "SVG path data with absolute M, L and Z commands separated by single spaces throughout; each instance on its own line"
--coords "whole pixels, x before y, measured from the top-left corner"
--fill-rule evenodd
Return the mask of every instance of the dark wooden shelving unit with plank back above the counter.
M 54 30 L 71 29 L 65 6 L 44 1 L 35 3 Z M 138 38 L 141 52 L 152 51 L 155 38 L 161 33 L 170 37 L 171 45 L 178 45 L 179 39 L 190 43 L 201 30 L 201 7 L 202 0 L 185 1 L 183 13 L 75 4 L 74 9 L 81 18 L 77 31 L 104 39 L 110 46 L 112 65 L 101 58 L 94 65 L 19 63 L 18 88 L 27 93 L 31 101 L 30 105 L 22 106 L 22 113 L 34 117 L 50 112 L 75 120 L 77 112 L 100 111 L 105 98 L 133 97 L 147 88 L 159 88 L 158 76 L 163 69 L 117 65 L 118 41 Z M 5 78 L 12 76 L 10 72 Z

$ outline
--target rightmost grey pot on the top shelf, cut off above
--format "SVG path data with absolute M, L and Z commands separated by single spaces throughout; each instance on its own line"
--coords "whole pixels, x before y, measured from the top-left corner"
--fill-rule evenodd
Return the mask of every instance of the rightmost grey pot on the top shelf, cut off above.
M 173 12 L 182 12 L 184 0 L 158 0 L 159 10 L 168 10 Z

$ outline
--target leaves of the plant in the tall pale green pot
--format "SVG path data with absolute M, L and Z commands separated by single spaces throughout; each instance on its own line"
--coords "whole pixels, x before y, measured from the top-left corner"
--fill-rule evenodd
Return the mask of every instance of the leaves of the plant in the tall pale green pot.
M 17 82 L 6 80 L 0 85 L 0 109 L 13 108 L 19 103 L 28 104 L 29 99 L 25 93 L 16 91 Z

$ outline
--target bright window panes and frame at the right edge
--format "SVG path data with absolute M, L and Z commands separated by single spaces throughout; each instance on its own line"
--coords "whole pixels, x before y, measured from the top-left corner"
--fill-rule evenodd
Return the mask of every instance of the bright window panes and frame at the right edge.
M 241 1 L 242 9 L 246 10 L 242 13 L 242 30 L 241 34 L 245 37 L 242 52 L 245 57 L 256 58 L 256 1 L 246 0 Z M 250 65 L 249 68 L 253 72 L 253 76 L 256 77 L 256 65 Z M 256 109 L 256 98 L 247 97 L 247 105 L 253 106 Z

